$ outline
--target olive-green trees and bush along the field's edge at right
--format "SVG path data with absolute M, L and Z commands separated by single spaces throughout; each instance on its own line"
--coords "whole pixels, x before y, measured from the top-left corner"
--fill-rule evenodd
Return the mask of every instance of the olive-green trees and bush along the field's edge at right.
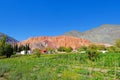
M 120 53 L 120 39 L 117 39 L 113 46 L 106 47 L 104 45 L 95 45 L 91 44 L 88 47 L 82 46 L 78 51 L 85 51 L 88 55 L 88 58 L 92 61 L 96 60 L 99 57 L 99 51 L 108 51 L 110 53 Z

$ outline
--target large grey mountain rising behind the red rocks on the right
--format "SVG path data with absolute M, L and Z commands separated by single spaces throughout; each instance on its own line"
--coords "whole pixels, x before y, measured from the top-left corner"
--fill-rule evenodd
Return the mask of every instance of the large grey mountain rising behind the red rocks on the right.
M 116 39 L 120 38 L 120 25 L 106 24 L 86 32 L 70 31 L 64 35 L 85 38 L 91 42 L 113 44 Z

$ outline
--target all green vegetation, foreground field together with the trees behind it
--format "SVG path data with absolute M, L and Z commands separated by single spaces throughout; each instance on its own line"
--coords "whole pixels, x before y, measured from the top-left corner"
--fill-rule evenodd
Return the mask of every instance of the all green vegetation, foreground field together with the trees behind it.
M 3 37 L 0 41 L 0 55 L 10 57 L 13 52 L 29 50 L 29 45 L 12 47 L 5 40 Z M 82 46 L 76 53 L 72 53 L 71 47 L 60 47 L 58 51 L 65 54 L 45 55 L 35 49 L 31 55 L 0 59 L 0 80 L 120 80 L 119 43 L 117 40 L 107 48 L 94 44 Z M 102 54 L 99 50 L 108 52 Z

